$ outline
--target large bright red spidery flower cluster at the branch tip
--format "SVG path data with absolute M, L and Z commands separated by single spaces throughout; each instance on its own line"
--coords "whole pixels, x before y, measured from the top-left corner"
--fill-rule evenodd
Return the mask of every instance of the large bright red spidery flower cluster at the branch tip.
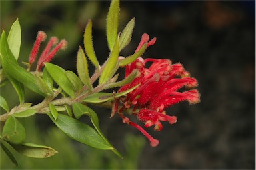
M 143 34 L 136 51 L 144 43 L 147 43 L 147 46 L 153 45 L 155 40 L 154 38 L 149 41 L 149 35 Z M 146 63 L 151 63 L 151 65 L 147 68 L 145 67 Z M 161 131 L 163 129 L 161 121 L 168 121 L 170 124 L 177 121 L 177 117 L 167 115 L 165 112 L 167 107 L 180 101 L 189 101 L 190 104 L 199 103 L 199 91 L 193 89 L 197 87 L 197 80 L 189 77 L 189 72 L 185 71 L 181 63 L 172 64 L 169 59 L 143 59 L 139 57 L 133 63 L 125 66 L 125 77 L 134 69 L 139 70 L 139 75 L 131 83 L 121 87 L 118 92 L 130 89 L 135 85 L 139 85 L 139 87 L 125 97 L 116 99 L 112 113 L 118 113 L 123 119 L 123 123 L 141 131 L 151 141 L 151 146 L 155 147 L 159 141 L 153 139 L 142 127 L 125 117 L 123 112 L 132 109 L 133 115 L 137 115 L 137 118 L 145 123 L 145 127 L 155 125 L 154 129 Z M 121 107 L 118 107 L 119 104 L 122 104 Z

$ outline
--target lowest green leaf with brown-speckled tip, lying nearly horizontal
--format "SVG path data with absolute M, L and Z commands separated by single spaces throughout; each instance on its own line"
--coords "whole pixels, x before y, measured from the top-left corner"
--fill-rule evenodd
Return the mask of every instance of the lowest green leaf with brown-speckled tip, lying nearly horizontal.
M 20 145 L 11 145 L 16 151 L 27 157 L 46 158 L 58 153 L 51 147 L 37 145 L 34 143 L 21 143 Z

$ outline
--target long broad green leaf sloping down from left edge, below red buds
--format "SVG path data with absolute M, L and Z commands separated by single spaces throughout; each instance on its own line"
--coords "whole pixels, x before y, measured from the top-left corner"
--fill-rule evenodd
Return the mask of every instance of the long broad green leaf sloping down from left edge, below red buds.
M 5 73 L 9 75 L 8 79 L 11 79 L 10 77 L 12 77 L 32 91 L 35 91 L 35 93 L 44 95 L 35 84 L 34 76 L 17 63 L 7 44 L 5 31 L 3 31 L 0 39 L 0 53 L 1 65 Z

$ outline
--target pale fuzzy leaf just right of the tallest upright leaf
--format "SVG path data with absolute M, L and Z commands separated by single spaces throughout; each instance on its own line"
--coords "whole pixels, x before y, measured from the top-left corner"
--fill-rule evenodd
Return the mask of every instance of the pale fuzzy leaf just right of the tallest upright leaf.
M 135 18 L 131 19 L 129 23 L 123 29 L 119 40 L 119 51 L 124 49 L 131 42 L 131 34 L 133 33 L 133 28 L 135 25 Z

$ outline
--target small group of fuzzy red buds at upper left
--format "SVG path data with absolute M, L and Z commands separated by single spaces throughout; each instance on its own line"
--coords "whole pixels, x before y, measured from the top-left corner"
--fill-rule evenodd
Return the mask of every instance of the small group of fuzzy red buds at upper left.
M 35 40 L 35 44 L 33 46 L 33 49 L 29 55 L 29 65 L 32 65 L 35 62 L 35 59 L 37 57 L 37 53 L 39 51 L 39 47 L 43 41 L 47 38 L 47 35 L 43 31 L 38 31 L 37 33 L 37 39 Z M 37 61 L 37 71 L 41 71 L 41 68 L 44 66 L 43 63 L 48 63 L 53 59 L 57 51 L 59 49 L 66 49 L 67 48 L 67 41 L 65 39 L 61 40 L 58 43 L 57 37 L 51 37 L 49 42 L 47 43 L 45 49 L 41 53 L 38 61 Z M 55 47 L 53 47 L 55 45 Z M 53 47 L 53 49 L 51 49 Z

